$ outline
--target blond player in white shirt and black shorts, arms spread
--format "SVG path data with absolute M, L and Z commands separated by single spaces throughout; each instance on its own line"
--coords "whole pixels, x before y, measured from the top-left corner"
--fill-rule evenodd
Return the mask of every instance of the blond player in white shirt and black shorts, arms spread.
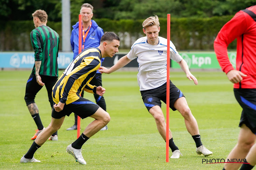
M 112 73 L 124 67 L 133 59 L 137 58 L 139 63 L 139 73 L 137 75 L 141 96 L 148 112 L 155 118 L 157 130 L 164 140 L 166 140 L 165 117 L 161 110 L 161 101 L 166 103 L 166 77 L 167 77 L 167 39 L 159 37 L 159 20 L 157 16 L 147 18 L 143 24 L 143 32 L 146 37 L 139 38 L 132 45 L 130 52 L 112 66 L 110 69 L 100 67 L 101 73 Z M 188 69 L 187 63 L 176 51 L 175 46 L 170 42 L 170 58 L 179 63 L 189 80 L 193 80 L 197 85 L 197 79 Z M 191 134 L 196 143 L 197 154 L 209 156 L 212 154 L 202 145 L 199 135 L 198 125 L 192 115 L 187 101 L 181 92 L 170 81 L 170 108 L 179 111 L 185 119 L 187 131 Z M 169 129 L 169 146 L 172 150 L 171 158 L 179 158 L 181 154 L 179 148 L 174 144 L 172 133 Z

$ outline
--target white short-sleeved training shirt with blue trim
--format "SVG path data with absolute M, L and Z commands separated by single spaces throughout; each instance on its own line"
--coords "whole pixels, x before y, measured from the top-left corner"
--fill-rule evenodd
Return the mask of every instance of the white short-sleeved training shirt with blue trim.
M 132 45 L 127 57 L 137 58 L 139 73 L 137 74 L 140 90 L 150 90 L 160 87 L 167 81 L 167 39 L 158 37 L 158 45 L 147 43 L 147 37 L 139 38 Z M 180 62 L 182 57 L 170 41 L 170 59 Z

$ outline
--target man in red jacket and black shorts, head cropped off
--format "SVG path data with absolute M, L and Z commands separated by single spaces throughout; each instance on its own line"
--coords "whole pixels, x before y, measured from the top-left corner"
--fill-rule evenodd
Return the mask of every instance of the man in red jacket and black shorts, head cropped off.
M 236 38 L 234 69 L 228 58 L 227 47 Z M 234 95 L 243 108 L 238 142 L 227 160 L 246 159 L 244 163 L 247 164 L 242 164 L 241 169 L 252 169 L 256 164 L 256 5 L 239 11 L 223 26 L 214 41 L 214 50 L 222 70 L 234 83 Z M 240 165 L 225 163 L 223 170 L 235 170 Z

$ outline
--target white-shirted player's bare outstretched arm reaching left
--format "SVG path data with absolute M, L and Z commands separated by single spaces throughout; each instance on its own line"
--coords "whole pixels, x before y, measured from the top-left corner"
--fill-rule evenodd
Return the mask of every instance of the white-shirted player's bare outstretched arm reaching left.
M 120 59 L 118 60 L 118 62 L 117 62 L 114 66 L 112 66 L 112 67 L 109 68 L 109 69 L 107 69 L 107 68 L 105 68 L 105 67 L 103 67 L 103 66 L 100 66 L 99 72 L 110 74 L 110 73 L 112 73 L 112 72 L 118 70 L 119 68 L 124 67 L 125 65 L 127 65 L 127 64 L 130 63 L 130 62 L 131 62 L 131 60 L 127 57 L 127 55 L 125 55 L 125 56 L 123 56 L 122 58 L 120 58 Z

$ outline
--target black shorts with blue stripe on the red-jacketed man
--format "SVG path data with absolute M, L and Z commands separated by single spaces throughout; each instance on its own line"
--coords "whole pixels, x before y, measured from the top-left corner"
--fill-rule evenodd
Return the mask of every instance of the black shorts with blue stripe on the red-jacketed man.
M 256 89 L 236 89 L 234 96 L 243 108 L 239 127 L 245 124 L 256 135 Z

